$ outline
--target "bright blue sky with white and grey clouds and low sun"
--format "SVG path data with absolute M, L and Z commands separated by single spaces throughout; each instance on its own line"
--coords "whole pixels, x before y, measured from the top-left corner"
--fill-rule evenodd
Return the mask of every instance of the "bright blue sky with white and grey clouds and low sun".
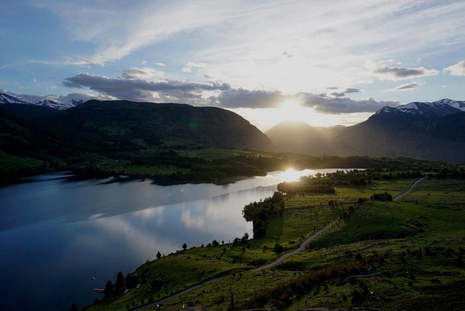
M 464 100 L 464 16 L 463 0 L 2 0 L 0 92 L 351 125 Z

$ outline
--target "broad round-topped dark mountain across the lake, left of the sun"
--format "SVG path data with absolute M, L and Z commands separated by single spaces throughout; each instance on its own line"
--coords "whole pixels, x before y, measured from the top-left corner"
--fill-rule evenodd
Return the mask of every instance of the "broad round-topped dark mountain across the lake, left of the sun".
M 215 147 L 269 150 L 272 141 L 240 115 L 216 107 L 125 100 L 89 100 L 51 117 L 63 126 L 87 126 L 130 140 L 177 141 Z M 92 125 L 90 125 L 92 124 Z

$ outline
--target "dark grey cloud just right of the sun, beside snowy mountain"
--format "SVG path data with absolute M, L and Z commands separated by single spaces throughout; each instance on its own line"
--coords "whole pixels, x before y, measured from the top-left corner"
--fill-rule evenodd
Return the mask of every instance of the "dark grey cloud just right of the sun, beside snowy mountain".
M 313 108 L 321 113 L 355 113 L 355 112 L 375 112 L 385 106 L 399 106 L 398 101 L 377 101 L 373 97 L 363 100 L 351 98 L 327 98 L 313 93 L 299 93 L 296 95 L 302 106 Z

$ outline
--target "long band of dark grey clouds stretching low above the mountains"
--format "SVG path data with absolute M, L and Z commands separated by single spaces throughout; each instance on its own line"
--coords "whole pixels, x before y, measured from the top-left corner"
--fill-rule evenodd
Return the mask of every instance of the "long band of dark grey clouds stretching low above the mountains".
M 63 85 L 72 88 L 89 88 L 93 91 L 118 99 L 146 102 L 176 102 L 197 106 L 213 105 L 222 108 L 279 108 L 286 100 L 296 100 L 304 107 L 322 113 L 374 112 L 384 106 L 398 106 L 397 101 L 377 101 L 374 98 L 356 101 L 343 97 L 345 93 L 359 92 L 356 88 L 346 88 L 344 92 L 331 94 L 297 93 L 283 94 L 279 91 L 247 90 L 231 88 L 227 83 L 194 83 L 162 79 L 149 82 L 144 79 L 129 78 L 141 75 L 145 68 L 132 68 L 124 71 L 124 77 L 80 73 L 63 80 Z M 144 71 L 145 72 L 145 71 Z M 328 88 L 332 89 L 332 88 Z M 336 88 L 337 89 L 337 88 Z M 204 91 L 215 91 L 205 98 Z

